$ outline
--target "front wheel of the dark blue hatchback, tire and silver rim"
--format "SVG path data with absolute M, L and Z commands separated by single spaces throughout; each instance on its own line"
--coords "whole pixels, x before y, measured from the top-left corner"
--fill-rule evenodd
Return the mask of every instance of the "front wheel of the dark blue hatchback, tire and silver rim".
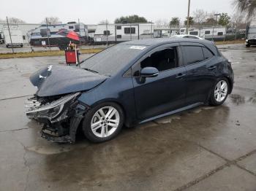
M 112 112 L 110 112 L 111 109 L 113 109 Z M 110 119 L 108 119 L 109 116 L 111 116 Z M 124 111 L 121 106 L 106 102 L 95 106 L 86 114 L 83 120 L 83 133 L 90 141 L 99 143 L 116 137 L 123 125 Z

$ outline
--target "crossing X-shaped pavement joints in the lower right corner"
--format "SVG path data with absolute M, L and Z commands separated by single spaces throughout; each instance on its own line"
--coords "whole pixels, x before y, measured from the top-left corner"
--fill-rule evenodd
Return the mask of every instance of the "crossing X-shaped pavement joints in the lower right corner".
M 252 171 L 249 171 L 246 168 L 242 167 L 241 165 L 237 164 L 239 161 L 244 160 L 246 157 L 249 157 L 250 155 L 255 154 L 256 149 L 252 150 L 251 152 L 248 152 L 246 155 L 238 157 L 235 160 L 227 160 L 225 157 L 222 157 L 221 155 L 217 154 L 216 152 L 213 152 L 210 149 L 207 149 L 206 147 L 203 147 L 200 144 L 197 144 L 197 145 L 199 147 L 205 149 L 206 151 L 211 152 L 211 154 L 217 155 L 218 157 L 222 158 L 223 160 L 226 161 L 226 163 L 224 165 L 221 165 L 218 168 L 215 168 L 214 170 L 208 172 L 207 174 L 203 174 L 203 176 L 198 177 L 197 179 L 193 180 L 192 182 L 188 182 L 187 184 L 184 184 L 183 186 L 178 187 L 175 191 L 181 191 L 181 190 L 187 189 L 188 187 L 192 187 L 193 185 L 203 181 L 204 179 L 207 179 L 209 176 L 212 176 L 212 175 L 216 174 L 218 171 L 221 171 L 223 168 L 226 168 L 230 165 L 236 165 L 236 167 L 240 168 L 241 170 L 244 170 L 244 171 L 248 172 L 249 174 L 252 174 L 252 175 L 256 176 L 256 174 L 253 173 Z

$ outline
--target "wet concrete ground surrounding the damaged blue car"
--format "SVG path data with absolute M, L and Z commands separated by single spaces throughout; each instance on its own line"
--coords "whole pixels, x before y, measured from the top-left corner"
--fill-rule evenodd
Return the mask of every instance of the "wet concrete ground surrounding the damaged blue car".
M 124 128 L 102 144 L 50 143 L 24 114 L 31 72 L 64 57 L 0 60 L 0 190 L 256 190 L 256 47 L 220 50 L 236 79 L 225 104 Z

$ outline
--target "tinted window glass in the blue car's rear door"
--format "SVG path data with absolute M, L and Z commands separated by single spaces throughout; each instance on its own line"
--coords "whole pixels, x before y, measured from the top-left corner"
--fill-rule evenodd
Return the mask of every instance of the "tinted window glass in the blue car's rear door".
M 184 61 L 186 65 L 204 61 L 202 47 L 183 46 L 182 52 L 184 55 Z

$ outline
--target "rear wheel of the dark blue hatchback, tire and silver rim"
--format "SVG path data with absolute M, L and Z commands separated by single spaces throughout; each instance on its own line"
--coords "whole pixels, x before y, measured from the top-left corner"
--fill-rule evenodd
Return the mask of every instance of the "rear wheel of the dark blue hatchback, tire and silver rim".
M 230 83 L 226 78 L 218 79 L 214 84 L 213 90 L 211 90 L 209 103 L 212 106 L 222 105 L 227 99 L 227 95 L 230 92 Z

